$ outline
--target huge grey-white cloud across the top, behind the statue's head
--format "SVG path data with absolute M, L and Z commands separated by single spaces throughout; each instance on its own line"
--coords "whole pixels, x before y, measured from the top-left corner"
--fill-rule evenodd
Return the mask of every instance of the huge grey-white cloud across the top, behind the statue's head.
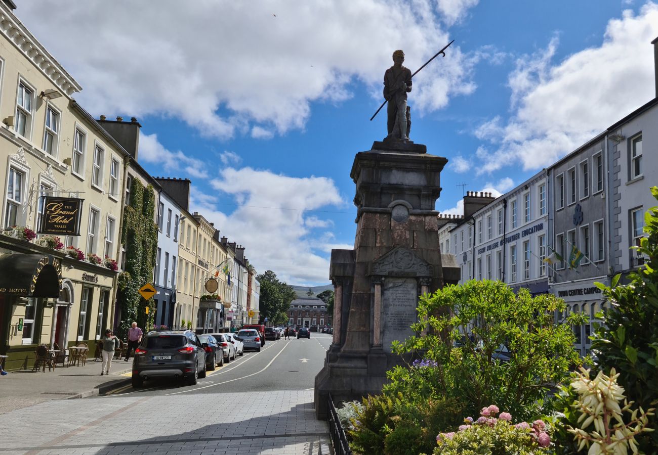
M 203 135 L 268 137 L 303 128 L 314 101 L 352 96 L 356 80 L 381 97 L 394 49 L 418 68 L 448 42 L 446 24 L 476 0 L 298 3 L 159 0 L 23 2 L 17 14 L 83 85 L 94 114 L 180 118 Z M 436 5 L 433 8 L 432 5 Z M 276 16 L 274 15 L 276 14 Z M 61 24 L 69 24 L 62 27 Z M 72 45 L 71 43 L 75 43 Z M 472 64 L 450 58 L 418 74 L 420 113 L 471 93 Z

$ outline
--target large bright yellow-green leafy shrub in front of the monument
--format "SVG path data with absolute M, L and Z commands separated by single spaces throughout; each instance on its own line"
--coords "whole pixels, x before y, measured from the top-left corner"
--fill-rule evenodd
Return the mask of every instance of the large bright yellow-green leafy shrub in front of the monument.
M 549 389 L 582 364 L 571 326 L 585 318 L 572 313 L 556 324 L 555 312 L 565 308 L 554 295 L 531 297 L 527 289 L 515 295 L 500 281 L 468 281 L 425 295 L 418 304 L 424 322 L 413 329 L 428 328 L 427 335 L 393 345 L 399 354 L 425 359 L 388 371 L 384 393 L 417 402 L 453 399 L 471 415 L 495 402 L 518 418 L 537 416 Z M 509 351 L 505 358 L 503 346 Z

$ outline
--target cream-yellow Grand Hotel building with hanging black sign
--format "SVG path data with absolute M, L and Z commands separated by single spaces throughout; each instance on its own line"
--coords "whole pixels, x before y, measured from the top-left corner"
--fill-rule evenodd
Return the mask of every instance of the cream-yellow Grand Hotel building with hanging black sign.
M 105 256 L 118 259 L 128 155 L 5 2 L 0 22 L 0 354 L 13 370 L 31 366 L 41 343 L 86 343 L 93 354 L 111 326 L 117 273 Z M 32 238 L 42 224 L 61 245 Z

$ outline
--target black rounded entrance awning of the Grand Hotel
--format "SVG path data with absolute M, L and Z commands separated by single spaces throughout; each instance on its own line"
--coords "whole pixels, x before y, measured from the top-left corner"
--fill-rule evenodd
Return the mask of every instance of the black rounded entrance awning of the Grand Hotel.
M 0 256 L 0 293 L 30 297 L 59 297 L 62 262 L 50 254 Z

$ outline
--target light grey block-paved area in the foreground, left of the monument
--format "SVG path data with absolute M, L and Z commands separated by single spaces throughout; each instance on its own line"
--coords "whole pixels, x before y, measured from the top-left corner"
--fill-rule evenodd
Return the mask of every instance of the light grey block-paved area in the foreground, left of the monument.
M 0 428 L 0 455 L 332 454 L 313 391 L 49 401 L 0 415 Z

